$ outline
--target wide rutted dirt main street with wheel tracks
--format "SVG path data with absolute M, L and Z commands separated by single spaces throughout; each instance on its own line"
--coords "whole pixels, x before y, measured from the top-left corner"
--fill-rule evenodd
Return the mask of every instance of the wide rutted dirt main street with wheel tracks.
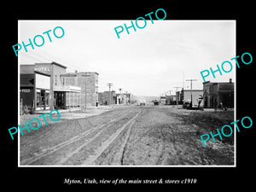
M 203 147 L 200 137 L 233 119 L 231 111 L 171 106 L 126 106 L 61 119 L 20 136 L 20 166 L 234 165 L 233 139 Z

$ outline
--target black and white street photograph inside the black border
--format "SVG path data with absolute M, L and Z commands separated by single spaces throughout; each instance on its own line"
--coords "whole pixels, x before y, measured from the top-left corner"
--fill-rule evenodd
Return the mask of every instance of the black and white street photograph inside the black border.
M 19 166 L 236 166 L 236 20 L 19 20 L 19 42 Z

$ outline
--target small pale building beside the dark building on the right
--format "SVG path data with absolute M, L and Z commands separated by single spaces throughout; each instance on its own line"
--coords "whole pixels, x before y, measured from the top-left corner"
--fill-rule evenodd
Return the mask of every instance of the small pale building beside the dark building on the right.
M 181 100 L 182 102 L 191 102 L 191 90 L 181 90 Z M 200 98 L 203 96 L 203 90 L 192 90 L 192 106 L 197 106 Z M 203 101 L 200 104 L 203 107 Z

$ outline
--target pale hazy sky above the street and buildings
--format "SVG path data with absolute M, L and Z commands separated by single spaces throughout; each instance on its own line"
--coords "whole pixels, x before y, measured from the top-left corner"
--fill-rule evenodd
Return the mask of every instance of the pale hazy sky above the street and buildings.
M 55 61 L 67 72 L 99 73 L 99 91 L 113 83 L 112 90 L 160 96 L 190 89 L 187 79 L 197 79 L 193 89 L 202 89 L 201 71 L 217 69 L 217 64 L 236 56 L 235 20 L 147 20 L 143 29 L 130 28 L 130 34 L 124 30 L 118 38 L 114 28 L 125 28 L 124 24 L 131 26 L 131 20 L 19 20 L 19 44 L 28 44 L 36 35 L 44 37 L 43 46 L 19 51 L 19 65 Z M 62 38 L 53 35 L 56 26 L 64 29 Z M 49 30 L 52 42 L 43 35 Z M 230 73 L 206 80 L 235 82 L 236 65 L 230 62 Z

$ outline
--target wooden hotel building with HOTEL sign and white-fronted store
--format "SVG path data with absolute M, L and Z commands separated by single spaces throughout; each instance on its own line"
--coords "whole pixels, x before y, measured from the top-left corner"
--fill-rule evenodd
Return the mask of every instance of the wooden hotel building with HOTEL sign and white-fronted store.
M 22 105 L 32 111 L 79 107 L 81 88 L 65 86 L 61 81 L 61 74 L 66 73 L 66 68 L 56 62 L 20 65 L 20 102 Z M 71 96 L 73 96 L 72 100 Z

